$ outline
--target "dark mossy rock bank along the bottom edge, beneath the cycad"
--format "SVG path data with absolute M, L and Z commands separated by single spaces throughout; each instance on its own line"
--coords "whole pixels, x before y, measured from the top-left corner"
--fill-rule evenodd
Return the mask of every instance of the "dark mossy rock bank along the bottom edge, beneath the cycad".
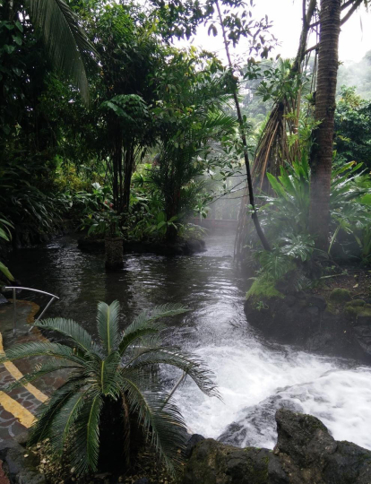
M 239 448 L 211 438 L 192 436 L 186 448 L 184 475 L 178 477 L 177 484 L 370 483 L 371 451 L 334 440 L 324 424 L 311 415 L 280 409 L 275 419 L 278 439 L 273 450 Z M 0 459 L 13 483 L 55 484 L 56 481 L 41 469 L 47 464 L 40 467 L 37 457 L 37 453 L 15 441 L 0 445 Z M 145 471 L 146 468 L 147 465 L 142 465 L 142 471 L 132 480 L 135 484 L 173 482 L 171 478 L 154 477 L 152 472 Z M 78 484 L 79 479 L 72 474 L 67 481 Z M 126 482 L 109 473 L 83 480 L 84 483 L 88 481 Z

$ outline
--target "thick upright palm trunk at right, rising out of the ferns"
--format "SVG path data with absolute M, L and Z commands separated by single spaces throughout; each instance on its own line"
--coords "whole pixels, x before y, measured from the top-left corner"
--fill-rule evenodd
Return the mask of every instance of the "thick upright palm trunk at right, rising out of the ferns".
M 318 56 L 315 129 L 311 152 L 309 229 L 315 246 L 326 250 L 329 245 L 330 187 L 336 81 L 338 73 L 341 0 L 321 0 L 320 43 Z

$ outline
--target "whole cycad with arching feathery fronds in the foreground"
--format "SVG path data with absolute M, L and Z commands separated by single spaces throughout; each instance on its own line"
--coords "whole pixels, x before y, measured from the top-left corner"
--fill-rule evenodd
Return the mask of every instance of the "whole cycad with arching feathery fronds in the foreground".
M 181 305 L 143 311 L 120 333 L 119 304 L 98 305 L 99 343 L 82 326 L 63 318 L 36 327 L 59 333 L 65 342 L 33 341 L 6 351 L 7 361 L 47 357 L 35 371 L 8 385 L 7 391 L 57 370 L 65 383 L 40 407 L 30 429 L 30 445 L 46 438 L 78 473 L 97 471 L 113 454 L 129 463 L 138 434 L 146 436 L 174 471 L 181 460 L 185 426 L 177 406 L 160 382 L 160 367 L 180 368 L 203 393 L 217 395 L 211 373 L 194 355 L 160 343 L 159 319 L 186 311 Z M 117 446 L 119 452 L 117 453 Z M 108 462 L 103 462 L 107 464 Z

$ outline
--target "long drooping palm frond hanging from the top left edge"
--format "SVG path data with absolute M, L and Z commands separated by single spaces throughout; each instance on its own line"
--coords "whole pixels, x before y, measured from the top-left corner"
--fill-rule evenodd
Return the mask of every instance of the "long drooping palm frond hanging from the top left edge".
M 97 56 L 79 19 L 63 0 L 27 0 L 30 19 L 44 40 L 47 55 L 60 72 L 71 78 L 89 104 L 87 66 Z

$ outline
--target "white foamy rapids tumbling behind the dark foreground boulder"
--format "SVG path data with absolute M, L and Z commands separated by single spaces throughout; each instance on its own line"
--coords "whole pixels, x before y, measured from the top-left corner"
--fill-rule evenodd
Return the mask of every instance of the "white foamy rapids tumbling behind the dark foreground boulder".
M 177 402 L 193 433 L 272 448 L 280 406 L 315 415 L 337 440 L 371 449 L 371 368 L 258 341 L 220 341 L 196 353 L 209 363 L 223 402 L 186 382 Z M 260 403 L 260 406 L 259 406 Z M 237 426 L 228 428 L 237 422 Z M 239 438 L 238 438 L 239 432 Z

